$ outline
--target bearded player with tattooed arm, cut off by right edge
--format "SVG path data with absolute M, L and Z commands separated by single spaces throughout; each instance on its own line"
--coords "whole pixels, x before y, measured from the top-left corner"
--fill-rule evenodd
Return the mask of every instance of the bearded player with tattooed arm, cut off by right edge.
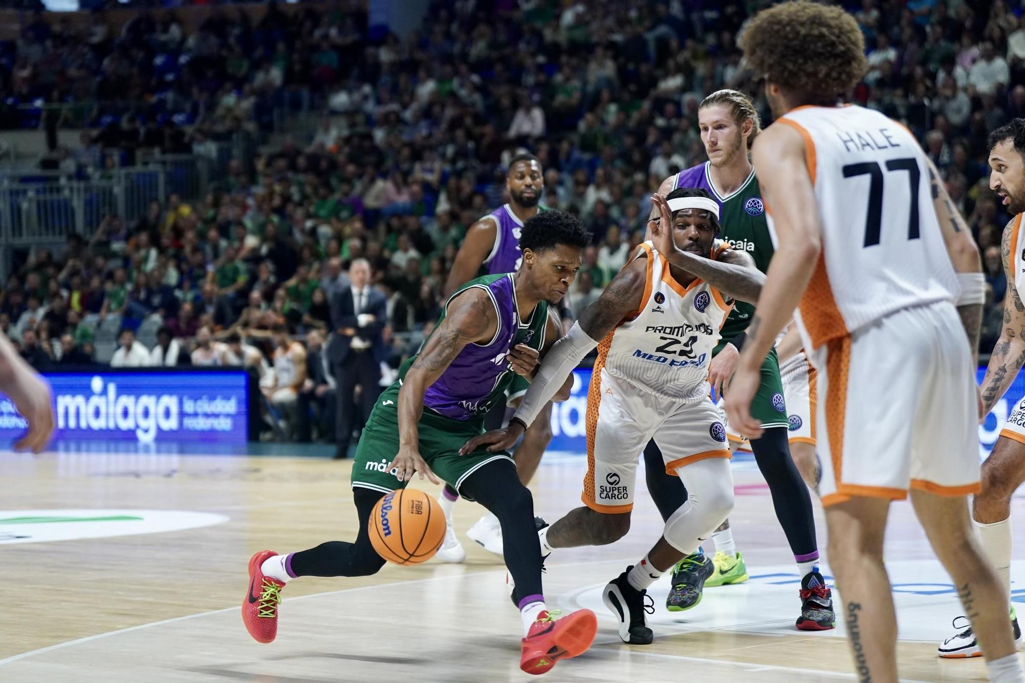
M 993 347 L 982 380 L 982 414 L 989 411 L 1014 381 L 1025 364 L 1025 263 L 1022 249 L 1025 239 L 1025 119 L 1015 119 L 989 135 L 989 187 L 996 192 L 1008 210 L 1015 216 L 1003 229 L 1000 253 L 1003 273 L 1008 278 L 1008 293 L 1003 297 L 1003 327 Z M 982 550 L 1011 594 L 1011 496 L 1025 481 L 1025 399 L 1011 412 L 1000 430 L 989 457 L 982 464 L 982 491 L 972 505 L 972 517 L 982 541 Z M 954 619 L 954 628 L 963 624 L 963 616 Z M 967 621 L 967 619 L 966 619 Z M 1015 645 L 1022 643 L 1014 604 L 1011 621 Z M 939 647 L 941 657 L 977 657 L 982 649 L 972 632 L 962 628 Z

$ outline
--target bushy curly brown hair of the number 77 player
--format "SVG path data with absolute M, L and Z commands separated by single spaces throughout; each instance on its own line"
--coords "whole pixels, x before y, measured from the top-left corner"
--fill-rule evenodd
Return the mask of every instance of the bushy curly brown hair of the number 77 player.
M 756 76 L 817 101 L 832 103 L 868 71 L 865 38 L 840 7 L 785 2 L 763 9 L 738 42 Z

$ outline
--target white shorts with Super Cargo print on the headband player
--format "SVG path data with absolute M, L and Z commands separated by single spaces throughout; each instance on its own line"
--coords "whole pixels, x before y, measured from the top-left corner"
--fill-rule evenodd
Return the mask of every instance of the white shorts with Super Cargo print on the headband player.
M 633 509 L 638 458 L 651 439 L 666 474 L 709 457 L 730 457 L 726 427 L 710 398 L 666 401 L 594 368 L 587 393 L 587 474 L 581 499 L 601 513 Z

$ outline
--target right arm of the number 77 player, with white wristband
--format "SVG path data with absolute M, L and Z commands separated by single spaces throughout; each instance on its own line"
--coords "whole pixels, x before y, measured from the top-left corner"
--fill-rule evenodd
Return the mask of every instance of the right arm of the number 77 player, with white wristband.
M 947 247 L 950 264 L 957 273 L 957 282 L 961 292 L 957 298 L 957 313 L 968 334 L 972 349 L 972 358 L 979 357 L 979 335 L 982 332 L 983 306 L 986 299 L 986 280 L 982 274 L 982 259 L 979 257 L 979 247 L 972 237 L 972 231 L 954 206 L 947 194 L 947 188 L 940 178 L 939 171 L 932 160 L 922 154 L 929 165 L 929 183 L 933 191 L 933 208 L 943 231 L 943 243 Z M 1004 238 L 1010 231 L 1004 231 Z M 1007 264 L 1003 265 L 1007 272 Z M 1008 275 L 1008 285 L 1014 280 L 1014 274 Z M 983 401 L 985 403 L 985 401 Z M 988 410 L 986 411 L 988 412 Z M 985 412 L 983 414 L 986 414 Z

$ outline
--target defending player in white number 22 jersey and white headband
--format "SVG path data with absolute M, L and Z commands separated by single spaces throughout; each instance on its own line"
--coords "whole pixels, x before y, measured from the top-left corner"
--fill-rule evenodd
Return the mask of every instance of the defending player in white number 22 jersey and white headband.
M 716 243 L 719 204 L 703 190 L 674 190 L 654 201 L 660 218 L 650 224 L 652 241 L 551 348 L 509 426 L 467 444 L 498 449 L 515 442 L 598 347 L 587 394 L 584 507 L 541 530 L 541 552 L 601 546 L 626 533 L 638 457 L 654 438 L 666 472 L 683 480 L 691 497 L 648 555 L 605 589 L 620 638 L 634 644 L 652 641 L 648 586 L 696 551 L 733 509 L 730 450 L 709 397 L 708 365 L 732 308 L 728 297 L 755 298 L 764 279 L 749 255 Z

